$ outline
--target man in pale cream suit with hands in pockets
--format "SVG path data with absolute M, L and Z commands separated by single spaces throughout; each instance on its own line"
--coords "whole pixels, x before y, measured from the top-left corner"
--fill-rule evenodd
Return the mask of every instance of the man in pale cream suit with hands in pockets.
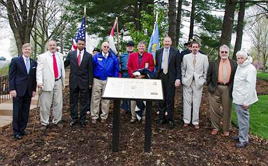
M 198 52 L 199 47 L 196 41 L 192 42 L 192 52 L 184 55 L 181 67 L 183 84 L 183 127 L 188 127 L 189 123 L 192 121 L 193 127 L 196 130 L 199 129 L 199 107 L 209 67 L 208 57 Z

